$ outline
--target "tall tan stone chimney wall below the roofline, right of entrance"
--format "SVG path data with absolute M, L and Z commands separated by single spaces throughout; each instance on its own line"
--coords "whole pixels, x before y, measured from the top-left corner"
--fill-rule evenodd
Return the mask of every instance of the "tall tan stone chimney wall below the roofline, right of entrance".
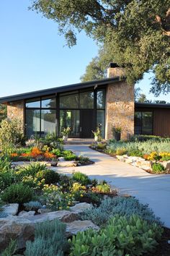
M 105 139 L 113 138 L 112 127 L 122 127 L 121 140 L 134 134 L 134 86 L 125 81 L 107 85 Z

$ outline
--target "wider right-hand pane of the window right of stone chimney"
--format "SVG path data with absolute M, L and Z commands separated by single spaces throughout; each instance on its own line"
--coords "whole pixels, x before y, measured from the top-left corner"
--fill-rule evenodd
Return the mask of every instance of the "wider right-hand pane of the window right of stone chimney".
M 152 112 L 142 112 L 142 134 L 152 135 Z

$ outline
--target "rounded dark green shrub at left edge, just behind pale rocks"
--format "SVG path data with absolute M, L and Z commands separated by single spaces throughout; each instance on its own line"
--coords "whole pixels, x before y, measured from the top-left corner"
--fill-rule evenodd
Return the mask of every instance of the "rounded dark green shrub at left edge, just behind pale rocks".
M 22 204 L 32 200 L 32 197 L 33 190 L 22 183 L 12 184 L 11 186 L 4 189 L 4 192 L 1 192 L 1 200 L 4 202 L 18 202 Z

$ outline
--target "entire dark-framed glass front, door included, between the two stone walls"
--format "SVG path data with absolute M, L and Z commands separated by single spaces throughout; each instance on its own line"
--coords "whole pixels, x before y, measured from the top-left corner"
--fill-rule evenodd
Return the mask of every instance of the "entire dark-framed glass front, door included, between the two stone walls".
M 105 90 L 90 88 L 60 93 L 55 96 L 30 99 L 25 102 L 25 131 L 45 136 L 71 127 L 69 137 L 93 137 L 99 126 L 104 137 Z

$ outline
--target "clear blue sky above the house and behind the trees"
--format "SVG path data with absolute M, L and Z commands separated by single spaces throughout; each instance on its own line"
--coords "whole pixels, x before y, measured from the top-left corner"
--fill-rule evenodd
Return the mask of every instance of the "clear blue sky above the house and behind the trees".
M 72 48 L 57 24 L 28 11 L 30 0 L 0 1 L 0 97 L 80 82 L 97 45 L 81 33 Z M 138 85 L 148 98 L 148 74 Z M 169 95 L 156 99 L 169 101 Z

